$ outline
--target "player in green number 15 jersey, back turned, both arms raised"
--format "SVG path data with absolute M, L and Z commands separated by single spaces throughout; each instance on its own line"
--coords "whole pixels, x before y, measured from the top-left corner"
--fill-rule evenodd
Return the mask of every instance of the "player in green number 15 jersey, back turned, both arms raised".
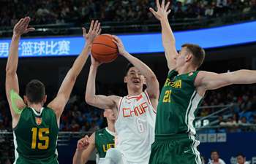
M 45 86 L 37 79 L 26 85 L 24 100 L 20 98 L 18 87 L 18 44 L 20 36 L 34 28 L 28 28 L 29 17 L 19 20 L 13 29 L 10 55 L 6 67 L 6 94 L 12 114 L 12 128 L 15 144 L 15 162 L 17 164 L 57 164 L 56 142 L 59 133 L 59 120 L 69 95 L 75 85 L 83 65 L 86 63 L 91 44 L 100 33 L 99 23 L 91 22 L 89 33 L 83 28 L 86 45 L 75 60 L 72 68 L 59 88 L 56 98 L 44 107 L 46 101 Z

